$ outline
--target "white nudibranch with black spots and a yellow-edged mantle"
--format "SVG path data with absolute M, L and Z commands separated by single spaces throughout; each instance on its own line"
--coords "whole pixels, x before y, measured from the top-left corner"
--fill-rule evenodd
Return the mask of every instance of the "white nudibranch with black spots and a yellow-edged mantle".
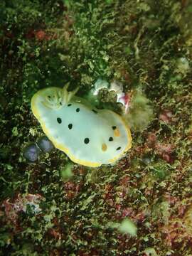
M 48 87 L 33 95 L 31 109 L 54 146 L 77 164 L 114 164 L 132 146 L 124 119 L 111 110 L 92 107 L 78 89 Z

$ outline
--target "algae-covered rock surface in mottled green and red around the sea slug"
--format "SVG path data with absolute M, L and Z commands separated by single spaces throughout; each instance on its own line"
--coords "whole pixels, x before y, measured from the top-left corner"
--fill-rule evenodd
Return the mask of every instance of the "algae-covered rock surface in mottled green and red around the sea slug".
M 188 0 L 1 0 L 0 255 L 192 254 L 191 10 Z M 28 164 L 23 149 L 44 135 L 35 92 L 70 82 L 83 97 L 98 78 L 151 102 L 129 154 L 75 164 L 66 179 L 58 150 Z M 100 108 L 120 112 L 114 98 L 103 90 Z M 41 211 L 26 195 L 43 198 Z

